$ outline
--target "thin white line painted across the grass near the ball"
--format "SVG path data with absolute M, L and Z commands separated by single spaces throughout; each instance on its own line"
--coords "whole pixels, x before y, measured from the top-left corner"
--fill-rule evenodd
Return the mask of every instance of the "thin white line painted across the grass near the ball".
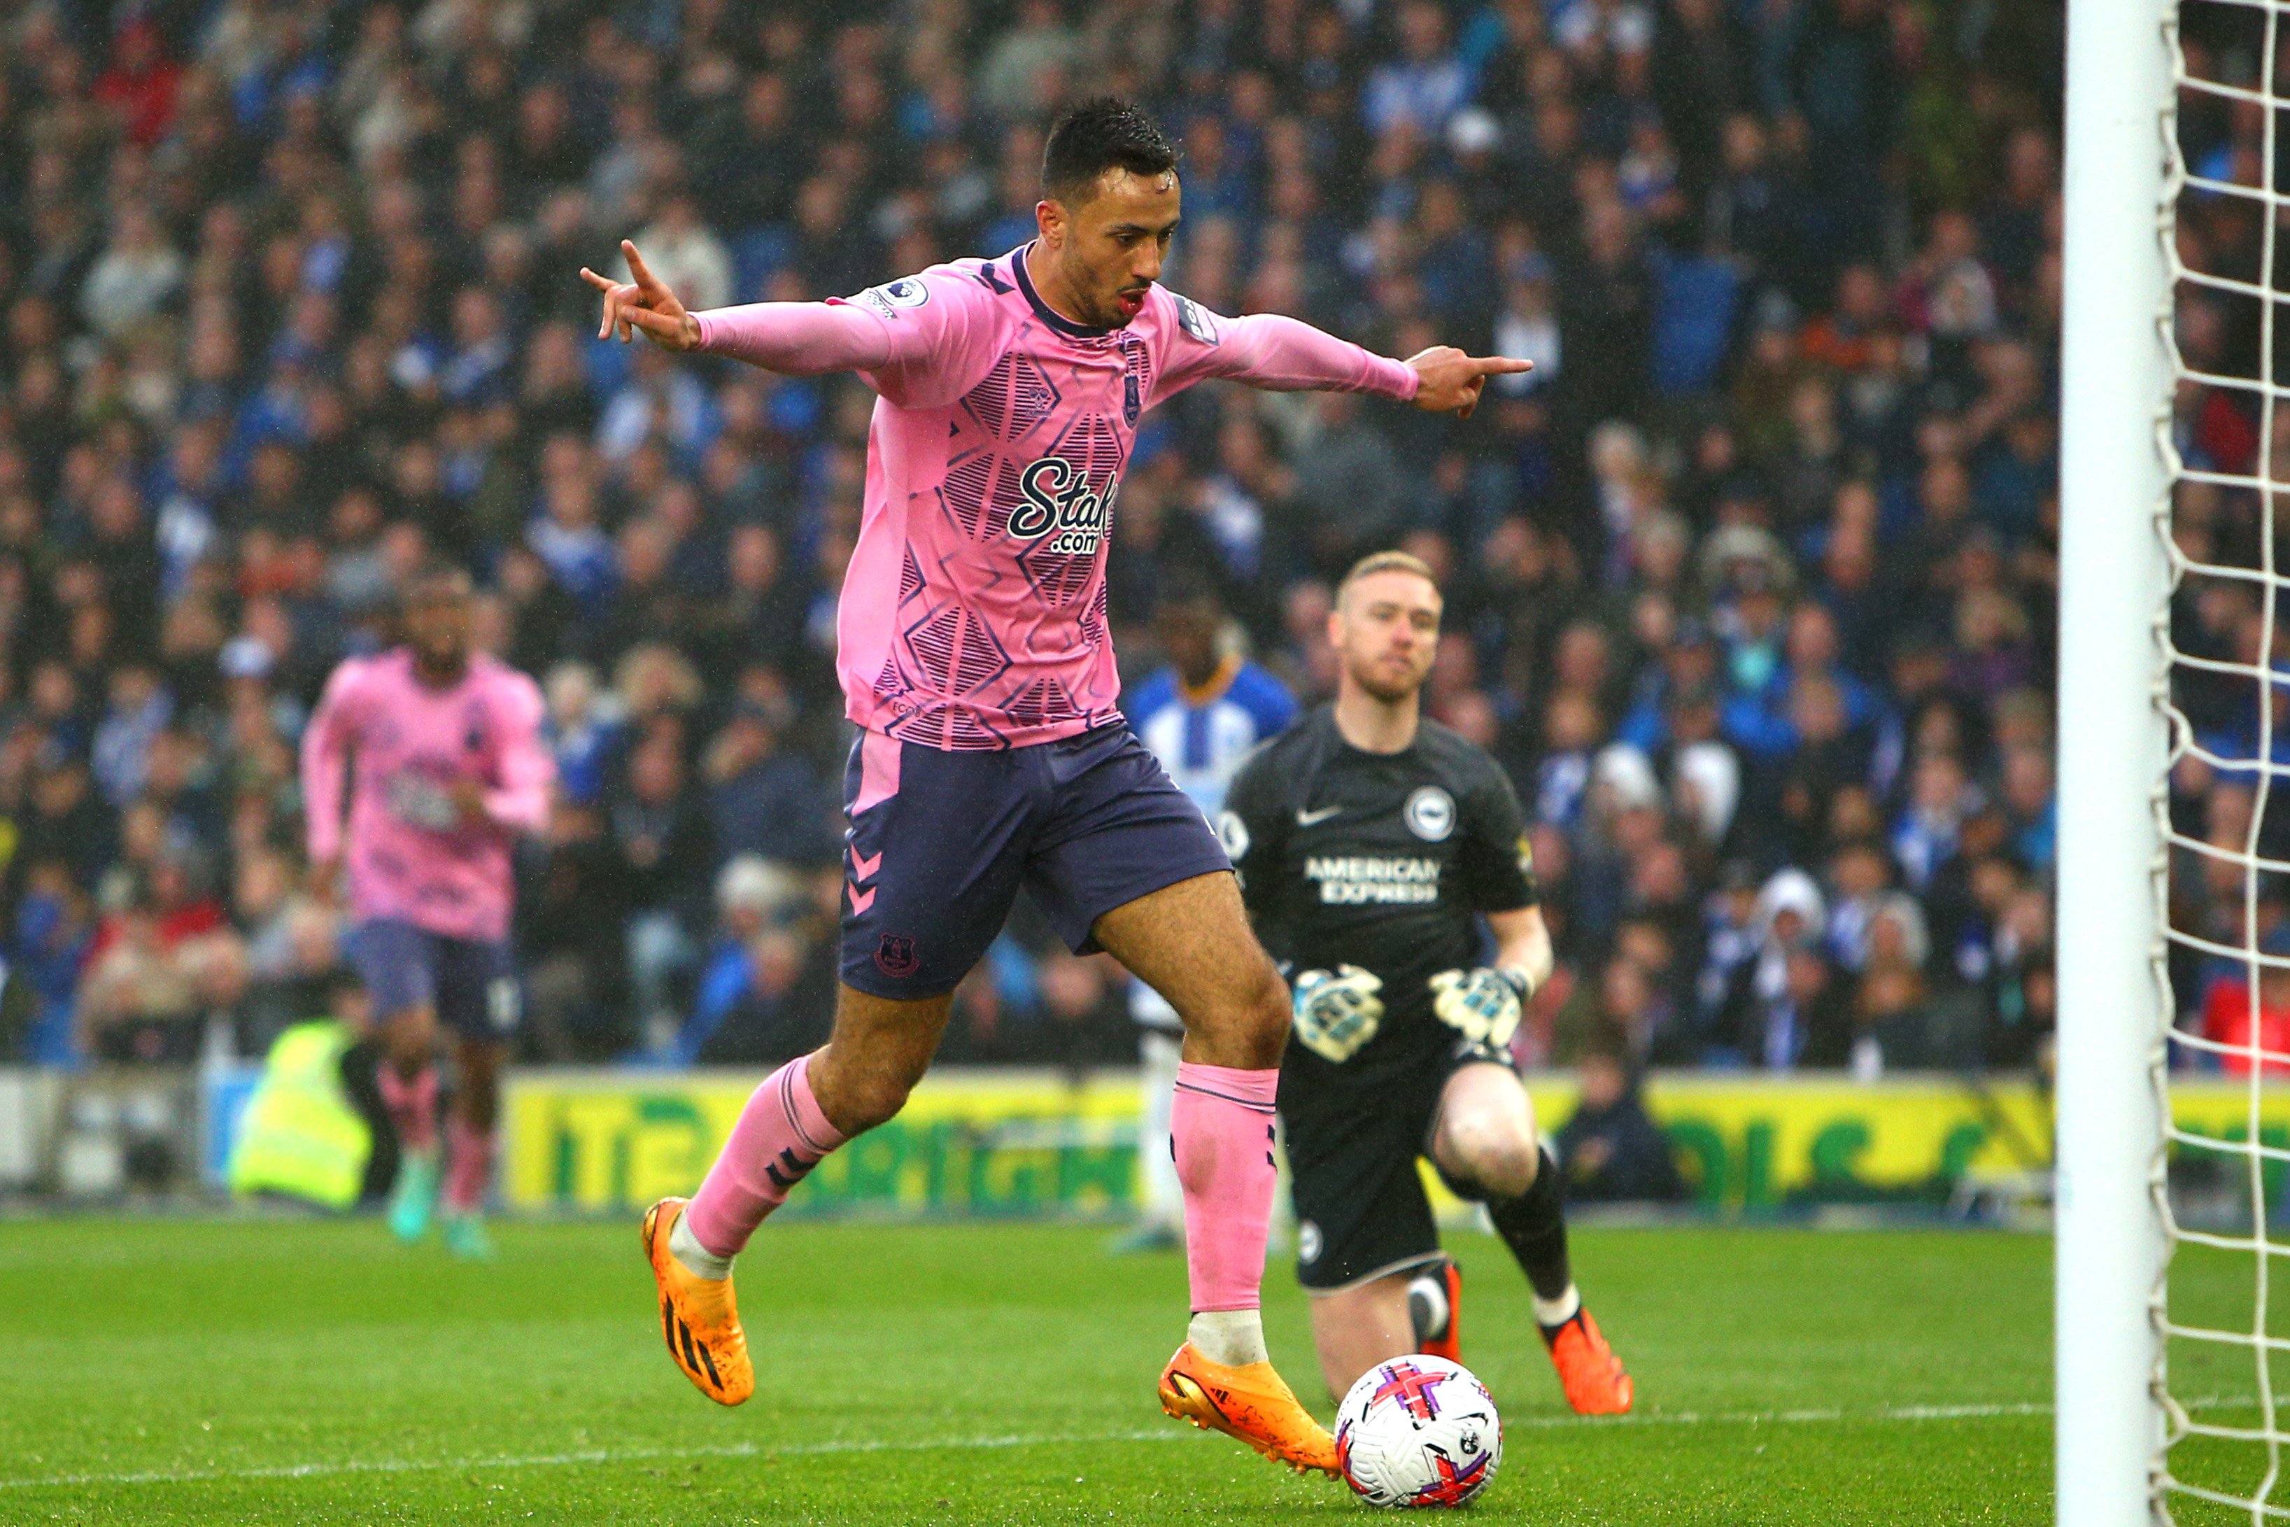
M 2217 1401 L 2233 1403 L 2233 1401 Z M 1882 1410 L 1660 1410 L 1647 1415 L 1580 1417 L 1530 1415 L 1507 1419 L 1505 1431 L 1548 1431 L 1562 1426 L 1814 1426 L 1830 1422 L 1981 1422 L 1997 1417 L 2052 1415 L 2045 1401 L 1976 1403 L 1976 1406 L 1889 1406 Z M 1177 1426 L 1154 1431 L 1108 1431 L 1097 1435 L 1010 1435 L 943 1438 L 934 1442 L 717 1442 L 701 1447 L 589 1447 L 570 1454 L 527 1454 L 508 1458 L 344 1458 L 321 1463 L 273 1463 L 247 1470 L 142 1470 L 133 1474 L 53 1474 L 48 1479 L 0 1479 L 0 1490 L 64 1490 L 108 1484 L 204 1484 L 215 1479 L 323 1479 L 330 1474 L 447 1474 L 453 1470 L 543 1470 L 577 1463 L 641 1463 L 653 1458 L 811 1458 L 822 1454 L 927 1454 L 982 1451 L 1001 1447 L 1101 1447 L 1106 1442 L 1182 1442 L 1193 1435 Z

